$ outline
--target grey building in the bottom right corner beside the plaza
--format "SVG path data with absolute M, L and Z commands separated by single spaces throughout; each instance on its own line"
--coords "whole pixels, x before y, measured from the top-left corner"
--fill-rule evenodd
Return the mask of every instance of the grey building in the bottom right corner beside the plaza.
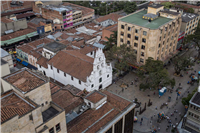
M 182 127 L 191 133 L 200 132 L 200 87 L 189 102 L 187 116 L 183 119 Z

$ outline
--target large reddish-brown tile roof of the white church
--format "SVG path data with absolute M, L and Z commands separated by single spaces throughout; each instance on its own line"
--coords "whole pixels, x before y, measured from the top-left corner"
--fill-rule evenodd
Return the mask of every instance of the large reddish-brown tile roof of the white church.
M 86 77 L 93 70 L 93 61 L 93 58 L 81 54 L 78 50 L 63 50 L 51 58 L 48 64 L 86 82 Z

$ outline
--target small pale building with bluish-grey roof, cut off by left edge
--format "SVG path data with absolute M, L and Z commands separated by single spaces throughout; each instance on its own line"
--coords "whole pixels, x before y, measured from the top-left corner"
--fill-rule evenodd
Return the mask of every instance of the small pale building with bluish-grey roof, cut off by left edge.
M 8 62 L 8 65 L 10 68 L 13 67 L 12 56 L 7 51 L 3 50 L 2 48 L 0 48 L 0 58 Z

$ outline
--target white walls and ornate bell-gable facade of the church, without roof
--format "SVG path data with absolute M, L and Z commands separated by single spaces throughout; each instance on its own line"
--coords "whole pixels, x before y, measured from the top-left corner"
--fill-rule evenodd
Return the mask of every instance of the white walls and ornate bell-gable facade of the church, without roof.
M 99 60 L 99 58 L 101 58 Z M 91 75 L 86 77 L 87 81 L 80 81 L 81 84 L 79 83 L 79 79 L 76 77 L 72 76 L 66 73 L 66 77 L 64 76 L 64 72 L 59 70 L 59 73 L 57 71 L 57 68 L 55 68 L 52 65 L 51 66 L 48 64 L 48 69 L 44 67 L 40 67 L 38 65 L 38 70 L 46 73 L 48 77 L 51 77 L 59 82 L 61 82 L 64 85 L 70 84 L 73 85 L 81 90 L 86 89 L 87 91 L 93 91 L 93 90 L 98 90 L 99 87 L 102 87 L 102 89 L 106 88 L 108 85 L 112 83 L 112 66 L 106 64 L 106 59 L 105 56 L 102 52 L 102 50 L 96 52 L 96 57 L 94 59 L 93 63 L 93 72 L 91 72 Z M 100 75 L 101 73 L 101 75 Z M 109 75 L 109 76 L 108 76 Z M 102 79 L 101 82 L 99 82 L 100 78 Z

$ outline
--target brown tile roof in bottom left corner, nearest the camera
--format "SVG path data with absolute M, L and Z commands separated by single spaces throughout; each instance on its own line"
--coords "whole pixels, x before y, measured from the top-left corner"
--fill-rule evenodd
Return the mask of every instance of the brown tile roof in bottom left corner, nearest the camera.
M 0 94 L 0 124 L 12 117 L 22 116 L 32 111 L 36 105 L 20 97 L 13 91 Z

